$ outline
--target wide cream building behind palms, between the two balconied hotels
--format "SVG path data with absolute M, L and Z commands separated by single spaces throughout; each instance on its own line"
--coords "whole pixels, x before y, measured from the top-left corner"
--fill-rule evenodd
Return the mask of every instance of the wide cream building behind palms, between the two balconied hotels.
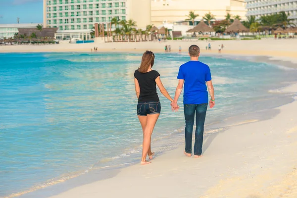
M 216 20 L 225 19 L 227 13 L 246 18 L 245 0 L 151 0 L 151 23 L 158 26 L 163 22 L 184 21 L 189 11 L 199 14 L 196 21 L 211 12 Z

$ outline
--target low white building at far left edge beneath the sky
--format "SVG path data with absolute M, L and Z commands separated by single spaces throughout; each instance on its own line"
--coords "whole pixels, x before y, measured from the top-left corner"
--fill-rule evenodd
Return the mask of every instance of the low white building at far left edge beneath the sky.
M 18 33 L 18 28 L 34 28 L 37 25 L 37 23 L 0 24 L 0 39 L 12 38 Z

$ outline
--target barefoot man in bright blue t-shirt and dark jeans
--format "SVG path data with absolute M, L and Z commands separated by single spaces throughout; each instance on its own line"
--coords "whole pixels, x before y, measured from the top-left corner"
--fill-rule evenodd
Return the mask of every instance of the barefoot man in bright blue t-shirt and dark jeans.
M 192 156 L 192 136 L 194 118 L 196 113 L 196 132 L 195 132 L 195 146 L 194 155 L 196 158 L 202 156 L 202 143 L 204 132 L 204 121 L 208 103 L 208 93 L 210 94 L 209 107 L 213 108 L 215 105 L 214 90 L 211 82 L 211 73 L 209 67 L 198 61 L 200 49 L 193 45 L 189 48 L 190 61 L 180 66 L 177 78 L 179 79 L 176 88 L 175 97 L 172 102 L 172 109 L 178 109 L 178 98 L 184 91 L 184 113 L 186 120 L 185 139 L 186 147 L 185 154 Z M 207 85 L 207 88 L 206 88 Z

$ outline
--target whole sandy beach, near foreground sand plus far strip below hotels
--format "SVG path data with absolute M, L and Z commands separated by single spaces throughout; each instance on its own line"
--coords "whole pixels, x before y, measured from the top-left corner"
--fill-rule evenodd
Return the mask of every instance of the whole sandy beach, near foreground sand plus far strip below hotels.
M 51 46 L 1 46 L 0 52 L 98 52 L 152 50 L 165 45 L 186 52 L 192 42 L 167 41 Z M 297 68 L 297 40 L 195 42 L 203 53 L 257 56 L 255 61 Z M 268 56 L 269 58 L 261 58 Z M 284 79 L 285 81 L 285 79 Z M 215 85 L 214 85 L 215 87 Z M 183 154 L 184 146 L 157 156 L 146 166 L 120 169 L 108 179 L 75 187 L 51 198 L 297 198 L 297 77 L 296 84 L 272 90 L 292 96 L 293 102 L 270 109 L 269 119 L 248 119 L 208 134 L 203 157 Z M 207 118 L 206 118 L 207 119 Z M 206 129 L 207 130 L 207 127 Z

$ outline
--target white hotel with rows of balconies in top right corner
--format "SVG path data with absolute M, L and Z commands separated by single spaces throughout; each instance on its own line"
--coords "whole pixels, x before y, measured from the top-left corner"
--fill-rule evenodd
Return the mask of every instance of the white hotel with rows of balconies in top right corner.
M 246 0 L 247 16 L 260 16 L 285 11 L 297 24 L 297 0 Z

